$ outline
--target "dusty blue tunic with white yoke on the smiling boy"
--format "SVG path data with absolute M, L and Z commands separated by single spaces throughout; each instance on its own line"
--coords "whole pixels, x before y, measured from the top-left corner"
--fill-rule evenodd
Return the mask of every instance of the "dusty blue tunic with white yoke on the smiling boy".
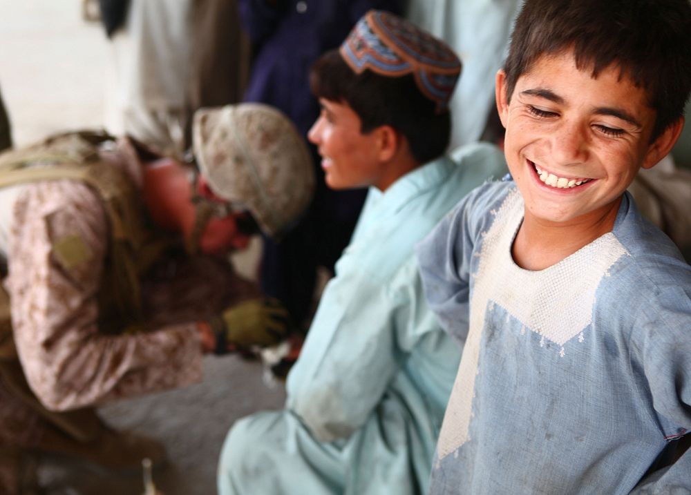
M 511 258 L 522 217 L 515 184 L 487 184 L 419 246 L 464 342 L 430 494 L 630 493 L 691 429 L 691 268 L 628 194 L 612 232 L 542 271 Z M 688 493 L 690 457 L 643 493 Z

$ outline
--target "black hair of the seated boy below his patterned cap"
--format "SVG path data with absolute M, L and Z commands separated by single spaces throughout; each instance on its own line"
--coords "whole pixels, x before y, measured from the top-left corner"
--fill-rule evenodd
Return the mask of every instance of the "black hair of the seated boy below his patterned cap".
M 310 87 L 317 98 L 347 103 L 360 117 L 362 133 L 379 126 L 395 128 L 420 164 L 446 151 L 451 113 L 436 113 L 435 102 L 420 92 L 411 74 L 385 77 L 365 70 L 357 75 L 338 50 L 331 50 L 312 66 Z

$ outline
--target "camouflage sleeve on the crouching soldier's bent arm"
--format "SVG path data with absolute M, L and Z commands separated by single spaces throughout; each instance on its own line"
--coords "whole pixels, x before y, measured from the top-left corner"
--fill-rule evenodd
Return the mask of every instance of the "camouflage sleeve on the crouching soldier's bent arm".
M 12 327 L 29 385 L 49 409 L 200 379 L 201 346 L 191 324 L 99 333 L 97 293 L 107 240 L 104 211 L 83 184 L 35 184 L 15 205 L 6 284 Z

